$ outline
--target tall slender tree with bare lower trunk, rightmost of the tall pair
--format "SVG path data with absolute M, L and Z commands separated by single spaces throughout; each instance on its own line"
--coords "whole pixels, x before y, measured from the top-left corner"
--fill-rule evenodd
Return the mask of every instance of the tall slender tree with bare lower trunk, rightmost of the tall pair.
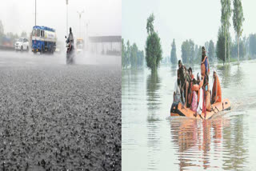
M 242 3 L 241 0 L 233 0 L 234 10 L 233 10 L 233 25 L 234 31 L 237 34 L 237 42 L 238 42 L 238 63 L 239 63 L 239 39 L 242 35 L 242 22 L 245 21 L 243 18 L 242 12 Z

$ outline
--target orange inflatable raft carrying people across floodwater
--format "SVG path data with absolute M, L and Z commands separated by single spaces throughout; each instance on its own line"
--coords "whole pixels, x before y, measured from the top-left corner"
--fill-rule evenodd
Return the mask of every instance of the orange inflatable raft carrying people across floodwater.
M 198 119 L 210 119 L 214 116 L 214 114 L 219 113 L 224 110 L 230 110 L 230 101 L 229 99 L 224 99 L 222 102 L 217 102 L 211 105 L 211 111 L 207 111 L 206 113 L 202 113 L 201 116 L 197 114 L 195 117 L 195 112 L 192 111 L 190 108 L 186 108 L 182 103 L 173 103 L 170 108 L 170 116 L 182 116 L 182 117 L 191 117 L 191 118 L 198 118 Z

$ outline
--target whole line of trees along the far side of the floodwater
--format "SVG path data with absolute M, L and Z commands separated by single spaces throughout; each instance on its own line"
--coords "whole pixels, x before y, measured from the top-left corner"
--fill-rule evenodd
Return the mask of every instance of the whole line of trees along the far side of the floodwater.
M 242 23 L 245 21 L 245 18 L 243 17 L 241 0 L 221 0 L 220 2 L 222 15 L 217 42 L 214 43 L 213 40 L 210 40 L 205 45 L 199 46 L 192 39 L 185 40 L 181 46 L 183 63 L 199 64 L 202 59 L 202 46 L 205 46 L 210 62 L 218 61 L 222 62 L 223 65 L 227 62 L 237 61 L 239 63 L 240 60 L 256 58 L 256 34 L 242 37 Z M 232 9 L 231 2 L 233 2 Z M 236 34 L 234 39 L 230 36 L 231 17 Z M 145 59 L 143 50 L 138 50 L 135 43 L 133 46 L 130 46 L 128 41 L 125 45 L 122 40 L 122 67 L 142 67 L 144 61 L 146 61 L 146 66 L 152 71 L 157 70 L 161 63 L 177 65 L 178 58 L 175 39 L 173 39 L 170 46 L 170 56 L 162 58 L 161 39 L 154 30 L 154 14 L 150 14 L 146 20 L 146 31 L 148 35 L 146 38 Z

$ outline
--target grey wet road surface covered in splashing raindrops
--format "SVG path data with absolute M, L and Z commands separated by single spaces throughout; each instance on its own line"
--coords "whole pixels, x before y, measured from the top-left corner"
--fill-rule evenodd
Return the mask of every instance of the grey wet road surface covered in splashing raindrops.
M 0 169 L 121 170 L 121 57 L 0 51 Z

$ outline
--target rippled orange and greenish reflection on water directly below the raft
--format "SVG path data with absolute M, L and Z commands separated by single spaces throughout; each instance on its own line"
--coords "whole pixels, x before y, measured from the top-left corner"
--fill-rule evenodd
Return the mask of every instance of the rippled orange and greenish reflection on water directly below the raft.
M 232 121 L 229 117 L 203 121 L 172 118 L 170 136 L 179 169 L 244 169 L 248 145 L 243 135 L 243 115 L 234 117 Z

